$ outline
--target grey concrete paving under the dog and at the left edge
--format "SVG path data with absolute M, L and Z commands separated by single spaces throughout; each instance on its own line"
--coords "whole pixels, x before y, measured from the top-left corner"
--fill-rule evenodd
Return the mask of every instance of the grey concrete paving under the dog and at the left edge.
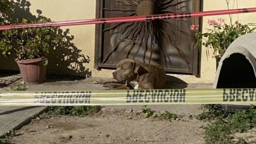
M 63 80 L 64 81 L 61 81 Z M 96 79 L 102 78 L 87 78 L 82 80 L 53 78 L 50 77 L 45 83 L 40 85 L 26 85 L 27 90 L 88 90 L 88 89 L 105 89 L 102 85 L 93 84 Z M 11 90 L 21 84 L 20 75 L 13 75 L 0 78 L 0 91 Z M 1 88 L 2 85 L 2 88 Z M 168 88 L 212 88 L 212 84 L 187 84 L 178 78 L 168 77 Z M 150 108 L 156 111 L 169 110 L 177 114 L 198 114 L 200 105 L 152 105 Z M 14 129 L 18 130 L 22 126 L 30 122 L 33 116 L 43 112 L 45 107 L 0 107 L 0 136 Z M 104 109 L 133 109 L 140 111 L 142 106 L 106 106 Z

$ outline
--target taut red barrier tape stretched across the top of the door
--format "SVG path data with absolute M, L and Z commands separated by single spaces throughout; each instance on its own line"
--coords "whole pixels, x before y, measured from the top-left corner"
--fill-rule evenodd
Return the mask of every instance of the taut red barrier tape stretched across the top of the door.
M 131 16 L 131 17 L 116 17 L 116 18 L 99 18 L 90 20 L 74 20 L 74 21 L 59 21 L 59 22 L 47 22 L 47 23 L 33 23 L 33 24 L 14 24 L 14 25 L 2 25 L 0 30 L 10 30 L 18 28 L 29 28 L 29 27 L 61 27 L 61 26 L 72 26 L 72 25 L 85 25 L 85 24 L 104 24 L 104 23 L 123 23 L 132 21 L 155 21 L 162 19 L 175 19 L 175 18 L 190 18 L 190 17 L 203 17 L 212 15 L 223 15 L 223 14 L 239 14 L 256 12 L 256 8 L 243 8 L 243 9 L 232 9 L 232 10 L 218 10 L 218 11 L 199 11 L 199 12 L 187 12 L 177 14 L 155 14 L 147 16 Z

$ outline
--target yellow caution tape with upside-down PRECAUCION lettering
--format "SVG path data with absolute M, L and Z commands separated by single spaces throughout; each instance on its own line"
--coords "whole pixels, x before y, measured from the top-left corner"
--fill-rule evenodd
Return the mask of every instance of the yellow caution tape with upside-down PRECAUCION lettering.
M 0 106 L 256 104 L 255 88 L 0 91 Z

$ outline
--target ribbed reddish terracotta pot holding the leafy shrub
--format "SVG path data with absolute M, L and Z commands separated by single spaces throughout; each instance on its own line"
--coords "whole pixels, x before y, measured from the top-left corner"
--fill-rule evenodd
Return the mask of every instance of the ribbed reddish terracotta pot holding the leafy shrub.
M 46 66 L 43 65 L 43 58 L 15 60 L 20 68 L 21 77 L 28 83 L 43 83 L 46 74 Z

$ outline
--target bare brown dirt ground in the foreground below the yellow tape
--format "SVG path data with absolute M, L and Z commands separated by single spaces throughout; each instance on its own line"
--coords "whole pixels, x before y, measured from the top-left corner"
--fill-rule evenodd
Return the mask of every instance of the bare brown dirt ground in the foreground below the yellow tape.
M 203 142 L 206 122 L 183 115 L 172 122 L 144 119 L 131 110 L 107 109 L 94 116 L 70 117 L 41 115 L 18 130 L 10 140 L 17 144 L 137 144 Z

